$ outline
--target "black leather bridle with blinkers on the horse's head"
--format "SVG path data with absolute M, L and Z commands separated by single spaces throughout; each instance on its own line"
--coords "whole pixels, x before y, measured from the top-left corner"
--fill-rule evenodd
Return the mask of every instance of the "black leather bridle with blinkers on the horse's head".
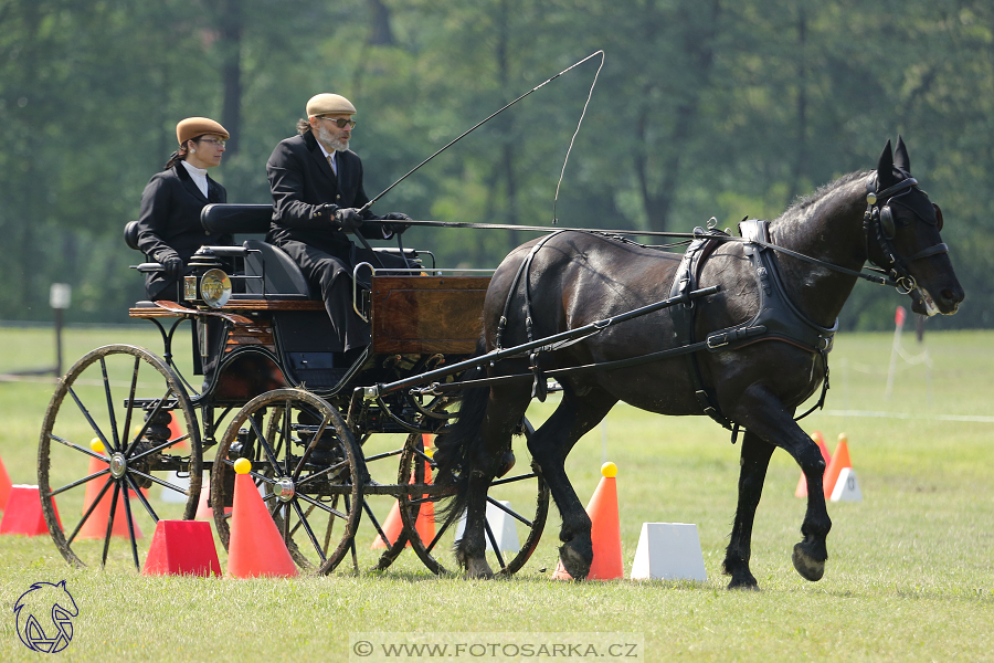
M 897 235 L 897 225 L 893 222 L 890 201 L 909 193 L 917 186 L 918 180 L 909 177 L 882 191 L 877 191 L 877 175 L 874 173 L 866 180 L 866 212 L 863 214 L 863 230 L 866 234 L 867 260 L 880 267 L 874 271 L 890 274 L 898 284 L 898 292 L 905 295 L 918 287 L 914 276 L 908 270 L 909 263 L 931 255 L 949 253 L 949 246 L 944 242 L 923 249 L 908 257 L 901 257 L 893 246 L 892 240 Z M 935 209 L 938 228 L 942 230 L 942 212 L 939 210 L 939 206 L 932 203 L 932 207 Z M 871 236 L 876 239 L 877 246 L 887 264 L 881 265 L 870 256 Z

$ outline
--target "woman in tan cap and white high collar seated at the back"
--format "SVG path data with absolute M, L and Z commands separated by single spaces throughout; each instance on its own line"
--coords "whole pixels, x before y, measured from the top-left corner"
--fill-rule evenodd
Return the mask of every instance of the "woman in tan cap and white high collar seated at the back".
M 179 301 L 187 263 L 197 250 L 233 241 L 230 234 L 205 232 L 200 224 L 204 207 L 228 201 L 224 187 L 207 171 L 221 164 L 229 137 L 228 130 L 213 119 L 181 120 L 176 125 L 179 147 L 165 169 L 145 187 L 138 215 L 138 248 L 165 267 L 165 272 L 145 275 L 149 299 Z

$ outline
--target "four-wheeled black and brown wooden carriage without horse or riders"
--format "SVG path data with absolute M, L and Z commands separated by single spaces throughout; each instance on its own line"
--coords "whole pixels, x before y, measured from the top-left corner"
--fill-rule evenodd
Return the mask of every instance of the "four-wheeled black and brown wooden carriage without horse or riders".
M 201 221 L 210 231 L 251 235 L 268 230 L 271 214 L 269 206 L 213 204 Z M 125 236 L 137 249 L 134 232 L 133 222 Z M 444 572 L 458 523 L 442 524 L 437 534 L 423 523 L 442 497 L 431 484 L 432 435 L 459 394 L 406 388 L 370 396 L 369 388 L 423 382 L 417 376 L 429 372 L 435 382 L 456 380 L 462 369 L 447 367 L 475 350 L 489 272 L 443 270 L 431 252 L 404 253 L 416 271 L 356 266 L 356 276 L 368 274 L 356 282 L 370 284 L 353 288 L 353 306 L 371 325 L 371 344 L 347 364 L 330 351 L 332 329 L 320 298 L 296 264 L 261 239 L 201 249 L 183 302 L 135 304 L 129 316 L 156 326 L 162 354 L 127 345 L 91 351 L 59 382 L 45 414 L 39 486 L 63 503 L 60 519 L 55 502 L 42 501 L 65 559 L 107 564 L 117 551 L 140 567 L 136 511 L 154 522 L 163 508 L 190 519 L 198 511 L 203 516 L 204 502 L 226 548 L 233 463 L 246 457 L 300 567 L 329 573 L 351 551 L 346 566 L 358 569 L 356 547 L 369 546 L 356 540 L 364 516 L 389 544 L 376 568 L 387 568 L 410 544 L 430 569 Z M 198 386 L 176 360 L 184 339 L 177 332 L 187 320 L 193 371 L 203 375 Z M 521 427 L 530 431 L 527 421 Z M 161 490 L 165 505 L 150 488 Z M 511 498 L 501 498 L 501 490 Z M 394 501 L 403 523 L 399 537 L 383 529 Z M 493 547 L 498 568 L 514 573 L 541 536 L 549 491 L 528 462 L 519 463 L 491 504 L 516 523 L 514 549 Z

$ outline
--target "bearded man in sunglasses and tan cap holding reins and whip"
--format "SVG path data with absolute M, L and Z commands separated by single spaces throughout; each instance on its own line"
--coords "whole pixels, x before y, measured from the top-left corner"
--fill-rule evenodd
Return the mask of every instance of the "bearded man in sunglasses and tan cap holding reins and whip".
M 283 249 L 321 294 L 345 360 L 369 345 L 369 325 L 352 309 L 352 267 L 368 262 L 405 267 L 395 255 L 356 246 L 348 234 L 388 240 L 404 232 L 410 218 L 392 212 L 378 217 L 366 210 L 362 161 L 349 149 L 356 107 L 343 96 L 318 94 L 307 102 L 307 117 L 297 136 L 276 146 L 266 164 L 273 193 L 273 222 L 266 240 Z M 370 223 L 370 221 L 390 221 Z M 335 343 L 335 339 L 332 339 Z

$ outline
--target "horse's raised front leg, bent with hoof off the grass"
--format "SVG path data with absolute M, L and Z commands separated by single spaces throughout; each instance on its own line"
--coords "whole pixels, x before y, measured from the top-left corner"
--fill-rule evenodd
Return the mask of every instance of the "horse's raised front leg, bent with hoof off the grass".
M 793 419 L 793 412 L 787 410 L 779 398 L 765 387 L 748 388 L 734 408 L 728 411 L 750 433 L 759 435 L 766 443 L 780 446 L 790 453 L 801 466 L 804 476 L 807 477 L 807 511 L 804 514 L 804 522 L 801 524 L 801 534 L 804 535 L 804 539 L 794 546 L 793 562 L 794 568 L 805 579 L 821 580 L 825 572 L 825 560 L 828 559 L 825 539 L 832 529 L 832 520 L 828 518 L 828 511 L 825 507 L 825 494 L 822 487 L 825 460 L 822 457 L 818 445 L 797 425 Z M 745 454 L 744 446 L 742 453 Z M 765 465 L 763 474 L 765 474 Z M 755 501 L 759 502 L 759 495 L 755 496 Z M 742 508 L 741 503 L 740 508 Z M 728 558 L 726 561 L 729 561 Z M 732 567 L 736 561 L 732 559 Z

